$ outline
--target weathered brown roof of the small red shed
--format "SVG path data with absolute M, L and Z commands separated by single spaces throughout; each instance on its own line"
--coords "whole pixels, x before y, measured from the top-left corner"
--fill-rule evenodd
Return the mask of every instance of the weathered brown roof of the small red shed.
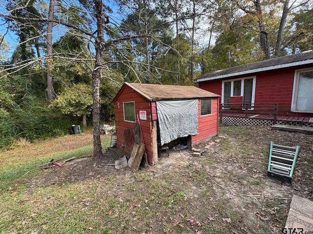
M 220 95 L 205 91 L 195 86 L 162 85 L 162 84 L 138 84 L 127 83 L 130 88 L 149 100 L 162 99 L 192 99 L 192 98 L 215 98 Z

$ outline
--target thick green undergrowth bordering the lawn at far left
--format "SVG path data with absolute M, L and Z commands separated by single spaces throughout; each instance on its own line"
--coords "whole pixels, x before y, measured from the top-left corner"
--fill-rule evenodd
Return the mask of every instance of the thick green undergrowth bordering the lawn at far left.
M 28 97 L 15 105 L 10 113 L 0 110 L 0 148 L 12 145 L 15 140 L 29 141 L 64 136 L 69 133 L 71 119 L 55 113 L 45 101 Z

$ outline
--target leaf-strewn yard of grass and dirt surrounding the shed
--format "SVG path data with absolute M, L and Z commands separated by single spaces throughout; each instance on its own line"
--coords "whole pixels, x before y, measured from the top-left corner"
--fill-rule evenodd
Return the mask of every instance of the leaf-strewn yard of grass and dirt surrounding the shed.
M 291 185 L 267 177 L 271 140 L 300 146 Z M 110 141 L 103 137 L 104 150 Z M 171 151 L 137 172 L 107 165 L 110 153 L 38 170 L 90 155 L 92 133 L 0 152 L 0 233 L 281 233 L 292 195 L 313 199 L 313 136 L 222 126 L 210 142 L 196 147 L 202 156 Z

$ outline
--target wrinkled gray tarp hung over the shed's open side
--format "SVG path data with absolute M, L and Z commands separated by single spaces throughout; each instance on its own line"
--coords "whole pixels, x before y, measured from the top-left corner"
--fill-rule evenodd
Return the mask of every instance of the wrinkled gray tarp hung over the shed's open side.
M 198 99 L 156 101 L 161 145 L 198 134 Z

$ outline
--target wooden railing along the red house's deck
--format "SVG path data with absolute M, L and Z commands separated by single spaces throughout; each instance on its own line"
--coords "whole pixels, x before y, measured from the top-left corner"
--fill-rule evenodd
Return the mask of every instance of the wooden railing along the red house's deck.
M 221 103 L 220 119 L 227 113 L 244 114 L 246 118 L 251 115 L 271 115 L 273 116 L 273 124 L 275 124 L 278 103 Z

